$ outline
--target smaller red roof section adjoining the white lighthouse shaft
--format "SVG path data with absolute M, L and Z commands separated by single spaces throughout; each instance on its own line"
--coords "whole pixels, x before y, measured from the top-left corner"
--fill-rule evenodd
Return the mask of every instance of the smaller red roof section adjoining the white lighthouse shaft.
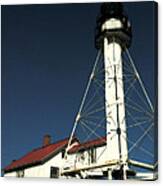
M 78 144 L 73 146 L 68 152 L 69 153 L 75 153 L 77 151 L 83 150 L 83 149 L 87 149 L 90 147 L 97 147 L 97 146 L 101 146 L 106 144 L 106 137 L 102 137 L 102 138 L 98 138 L 98 139 L 94 139 L 91 141 L 87 141 L 85 143 L 82 144 Z

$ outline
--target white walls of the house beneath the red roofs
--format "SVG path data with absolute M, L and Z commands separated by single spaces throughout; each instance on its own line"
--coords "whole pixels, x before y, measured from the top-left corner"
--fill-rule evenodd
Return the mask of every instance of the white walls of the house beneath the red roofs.
M 74 154 L 69 154 L 66 162 L 62 159 L 62 153 L 58 153 L 56 156 L 48 160 L 42 165 L 33 166 L 26 168 L 24 170 L 24 177 L 44 177 L 50 178 L 50 169 L 51 167 L 67 167 L 69 169 L 82 168 L 90 165 L 97 165 L 105 163 L 107 160 L 107 150 L 106 146 L 96 148 L 96 161 L 91 162 L 90 150 L 85 150 L 84 152 L 78 152 Z M 5 177 L 16 177 L 17 172 L 6 173 Z

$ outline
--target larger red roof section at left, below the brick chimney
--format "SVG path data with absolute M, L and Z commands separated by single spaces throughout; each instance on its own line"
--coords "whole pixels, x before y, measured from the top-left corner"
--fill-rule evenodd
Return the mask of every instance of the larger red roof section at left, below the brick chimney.
M 50 155 L 53 155 L 55 152 L 58 152 L 61 148 L 65 147 L 68 143 L 68 139 L 64 139 L 54 144 L 50 144 L 45 147 L 34 149 L 29 152 L 19 160 L 13 161 L 10 165 L 5 167 L 4 171 L 10 171 L 16 168 L 29 166 L 37 163 L 41 163 Z

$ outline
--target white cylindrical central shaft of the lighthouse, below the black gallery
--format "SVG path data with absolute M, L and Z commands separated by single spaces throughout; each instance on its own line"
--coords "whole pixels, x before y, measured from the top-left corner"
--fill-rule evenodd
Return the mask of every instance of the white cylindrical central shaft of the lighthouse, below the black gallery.
M 124 89 L 122 79 L 122 49 L 116 42 L 104 39 L 105 110 L 108 160 L 117 159 L 125 164 L 128 159 Z M 117 133 L 121 130 L 122 135 Z

